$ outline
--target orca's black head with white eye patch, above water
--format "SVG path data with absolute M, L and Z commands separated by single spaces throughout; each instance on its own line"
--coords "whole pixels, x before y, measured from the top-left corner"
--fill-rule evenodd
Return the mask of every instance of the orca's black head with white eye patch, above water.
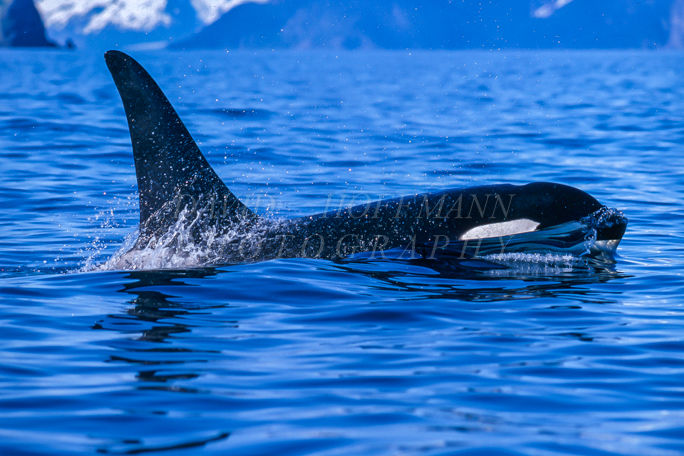
M 502 204 L 499 214 L 492 212 L 496 218 L 476 222 L 459 237 L 462 241 L 478 240 L 485 246 L 481 253 L 489 251 L 483 241 L 499 239 L 498 245 L 491 243 L 496 250 L 503 245 L 500 239 L 505 238 L 509 252 L 556 251 L 612 258 L 627 228 L 622 212 L 568 185 L 536 182 L 482 188 L 483 193 L 492 190 L 508 207 Z

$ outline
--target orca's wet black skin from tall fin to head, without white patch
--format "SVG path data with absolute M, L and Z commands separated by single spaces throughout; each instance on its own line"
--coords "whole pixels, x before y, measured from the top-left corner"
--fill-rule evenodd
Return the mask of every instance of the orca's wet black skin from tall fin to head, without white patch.
M 221 247 L 225 262 L 336 259 L 405 248 L 425 254 L 446 239 L 458 241 L 476 226 L 530 219 L 541 230 L 580 220 L 603 207 L 576 188 L 538 182 L 414 194 L 269 223 L 225 186 L 140 64 L 119 51 L 107 52 L 105 60 L 121 95 L 133 144 L 140 195 L 140 238 L 135 248 L 169 230 L 186 207 L 199 214 L 192 231 L 194 242 L 201 242 L 207 226 L 219 232 L 240 228 L 243 236 Z M 619 239 L 624 228 L 599 233 L 599 239 Z

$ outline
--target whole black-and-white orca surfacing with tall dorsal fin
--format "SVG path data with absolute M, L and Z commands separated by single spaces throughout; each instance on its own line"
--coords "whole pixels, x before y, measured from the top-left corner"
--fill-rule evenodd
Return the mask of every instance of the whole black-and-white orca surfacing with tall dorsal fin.
M 472 258 L 515 252 L 608 256 L 627 219 L 563 184 L 482 185 L 418 193 L 290 220 L 260 217 L 219 178 L 160 87 L 133 58 L 105 61 L 126 112 L 139 192 L 138 239 L 118 258 L 161 251 L 192 265 L 275 258 L 336 260 L 393 252 Z

